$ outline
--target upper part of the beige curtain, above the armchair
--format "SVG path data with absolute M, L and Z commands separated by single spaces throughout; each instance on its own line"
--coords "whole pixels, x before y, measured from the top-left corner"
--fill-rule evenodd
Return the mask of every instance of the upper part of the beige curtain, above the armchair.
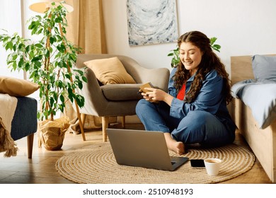
M 68 13 L 67 39 L 83 49 L 84 54 L 105 54 L 105 26 L 102 0 L 67 0 L 74 7 Z

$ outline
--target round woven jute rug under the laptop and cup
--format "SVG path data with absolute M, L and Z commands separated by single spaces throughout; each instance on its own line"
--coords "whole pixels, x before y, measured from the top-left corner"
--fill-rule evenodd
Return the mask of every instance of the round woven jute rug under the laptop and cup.
M 169 153 L 175 156 L 173 152 Z M 219 175 L 207 175 L 205 168 L 192 168 L 190 161 L 174 171 L 118 165 L 109 142 L 93 144 L 62 156 L 56 163 L 56 169 L 63 177 L 81 184 L 206 184 L 246 173 L 255 162 L 251 151 L 236 144 L 219 148 L 190 148 L 183 156 L 222 159 Z

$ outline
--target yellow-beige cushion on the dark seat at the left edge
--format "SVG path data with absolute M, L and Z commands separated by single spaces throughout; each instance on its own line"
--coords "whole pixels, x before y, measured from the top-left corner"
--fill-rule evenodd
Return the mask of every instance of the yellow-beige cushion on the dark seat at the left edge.
M 8 93 L 11 96 L 27 96 L 38 90 L 40 86 L 31 81 L 0 76 L 0 93 Z

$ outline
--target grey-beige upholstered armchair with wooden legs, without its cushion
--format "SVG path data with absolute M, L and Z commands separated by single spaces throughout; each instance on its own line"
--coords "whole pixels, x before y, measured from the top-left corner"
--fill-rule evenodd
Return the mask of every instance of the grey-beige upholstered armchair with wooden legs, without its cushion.
M 81 113 L 81 122 L 85 122 L 86 115 L 95 115 L 102 117 L 103 141 L 107 141 L 106 128 L 111 116 L 122 117 L 122 126 L 125 126 L 125 116 L 136 115 L 135 107 L 142 98 L 138 93 L 139 86 L 142 83 L 151 82 L 164 91 L 168 89 L 168 78 L 170 71 L 166 68 L 146 69 L 140 66 L 134 59 L 122 55 L 112 54 L 79 54 L 76 67 L 83 68 L 87 62 L 92 59 L 107 59 L 117 57 L 136 84 L 108 84 L 100 86 L 92 69 L 86 69 L 86 78 L 88 83 L 84 83 L 84 88 L 77 89 L 81 95 L 84 95 L 85 105 L 79 109 Z

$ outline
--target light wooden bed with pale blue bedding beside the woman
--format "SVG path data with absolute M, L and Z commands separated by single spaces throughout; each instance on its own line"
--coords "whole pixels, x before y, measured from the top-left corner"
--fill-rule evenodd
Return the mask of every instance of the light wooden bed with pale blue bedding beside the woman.
M 274 57 L 276 60 L 276 54 L 258 56 L 260 58 Z M 275 82 L 264 81 L 259 83 L 257 77 L 260 78 L 260 76 L 256 77 L 256 71 L 253 69 L 256 66 L 255 62 L 253 56 L 231 57 L 231 81 L 234 100 L 230 105 L 230 112 L 236 122 L 238 131 L 246 139 L 248 145 L 258 158 L 258 161 L 263 166 L 265 173 L 267 173 L 273 183 L 276 183 L 276 107 L 270 106 L 268 108 L 267 111 L 270 112 L 270 118 L 266 120 L 260 117 L 260 113 L 255 112 L 256 107 L 258 108 L 263 105 L 258 97 L 271 98 L 271 94 L 276 95 L 276 78 L 274 78 Z M 273 66 L 274 71 L 269 71 L 270 69 L 271 66 L 269 69 L 265 67 L 261 68 L 260 73 L 266 72 L 270 77 L 273 77 L 272 75 L 275 75 L 273 72 L 276 70 L 276 62 Z M 250 96 L 249 99 L 255 100 L 254 106 L 251 106 L 251 102 L 248 102 L 249 99 L 246 100 L 246 93 L 244 92 L 245 90 L 252 89 L 254 83 L 260 88 L 264 86 L 263 83 L 268 83 L 268 86 L 273 88 L 269 91 L 268 95 L 270 96 L 263 93 L 264 88 L 255 91 L 253 93 L 255 95 L 247 94 L 247 97 Z M 259 102 L 256 103 L 256 101 Z M 276 98 L 272 100 L 272 103 L 275 105 Z

